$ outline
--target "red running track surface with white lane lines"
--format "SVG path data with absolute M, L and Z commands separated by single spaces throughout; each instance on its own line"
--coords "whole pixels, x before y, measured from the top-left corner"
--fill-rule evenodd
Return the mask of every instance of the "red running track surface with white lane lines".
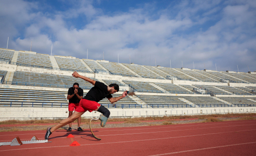
M 51 143 L 1 146 L 0 155 L 255 155 L 256 120 L 93 129 L 52 133 Z M 1 132 L 0 142 L 44 139 L 45 131 Z M 80 146 L 69 146 L 71 138 Z

